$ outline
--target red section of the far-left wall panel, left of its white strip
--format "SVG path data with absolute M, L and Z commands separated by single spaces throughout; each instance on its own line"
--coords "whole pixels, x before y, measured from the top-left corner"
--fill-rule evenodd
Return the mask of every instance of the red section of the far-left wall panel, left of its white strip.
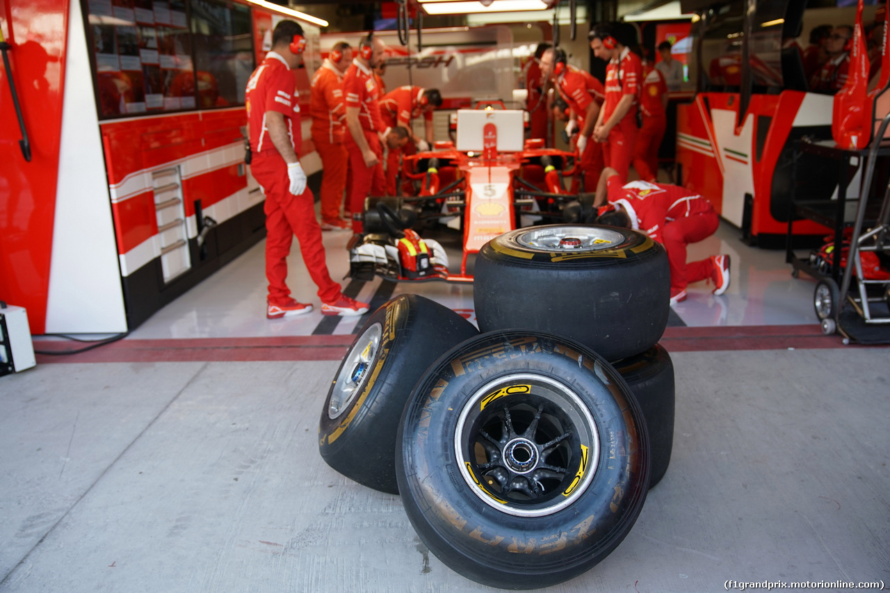
M 0 300 L 25 307 L 35 334 L 46 323 L 68 13 L 68 0 L 0 0 L 32 154 L 30 162 L 22 157 L 10 81 L 0 66 Z

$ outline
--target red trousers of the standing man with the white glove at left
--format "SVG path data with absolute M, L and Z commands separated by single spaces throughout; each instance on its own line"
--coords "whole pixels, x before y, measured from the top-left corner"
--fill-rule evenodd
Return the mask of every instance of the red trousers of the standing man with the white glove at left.
M 266 279 L 269 280 L 270 305 L 284 305 L 290 296 L 287 288 L 287 256 L 296 235 L 303 263 L 319 287 L 322 303 L 333 303 L 340 296 L 340 285 L 331 280 L 321 243 L 321 227 L 315 219 L 315 199 L 306 188 L 295 196 L 290 192 L 287 164 L 278 152 L 271 156 L 255 154 L 250 170 L 266 192 Z

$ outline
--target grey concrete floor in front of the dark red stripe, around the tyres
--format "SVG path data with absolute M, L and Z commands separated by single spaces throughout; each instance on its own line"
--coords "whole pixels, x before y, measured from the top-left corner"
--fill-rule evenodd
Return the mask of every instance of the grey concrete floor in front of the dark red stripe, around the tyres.
M 554 591 L 890 589 L 886 348 L 679 352 L 667 475 Z M 0 591 L 488 589 L 316 443 L 337 361 L 39 364 L 0 378 Z

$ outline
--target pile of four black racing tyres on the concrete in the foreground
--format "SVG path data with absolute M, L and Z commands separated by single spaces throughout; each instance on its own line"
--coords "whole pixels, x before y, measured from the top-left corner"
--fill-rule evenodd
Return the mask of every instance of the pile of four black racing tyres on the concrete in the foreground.
M 322 457 L 401 493 L 420 539 L 474 581 L 531 589 L 586 572 L 667 469 L 668 273 L 635 232 L 492 240 L 473 290 L 484 333 L 421 296 L 378 309 L 332 382 Z

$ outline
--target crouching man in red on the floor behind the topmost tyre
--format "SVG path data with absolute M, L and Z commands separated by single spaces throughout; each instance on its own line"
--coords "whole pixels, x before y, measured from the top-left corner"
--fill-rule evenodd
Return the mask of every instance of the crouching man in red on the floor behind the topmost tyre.
M 720 218 L 708 199 L 678 185 L 635 181 L 621 184 L 618 171 L 607 175 L 609 204 L 600 208 L 598 224 L 645 232 L 664 245 L 670 264 L 670 304 L 686 299 L 686 285 L 711 280 L 715 295 L 729 288 L 729 256 L 710 256 L 686 263 L 686 246 L 713 235 Z

